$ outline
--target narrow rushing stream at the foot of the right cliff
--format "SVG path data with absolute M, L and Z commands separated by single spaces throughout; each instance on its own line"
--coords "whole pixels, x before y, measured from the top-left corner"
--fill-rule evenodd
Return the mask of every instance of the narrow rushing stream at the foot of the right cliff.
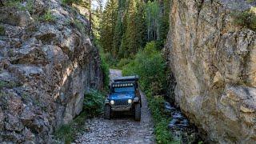
M 182 114 L 181 110 L 171 106 L 169 102 L 165 102 L 164 105 L 166 113 L 170 114 L 170 117 L 172 118 L 168 127 L 175 140 L 182 143 L 198 143 L 202 141 L 197 127 L 190 123 L 190 121 Z

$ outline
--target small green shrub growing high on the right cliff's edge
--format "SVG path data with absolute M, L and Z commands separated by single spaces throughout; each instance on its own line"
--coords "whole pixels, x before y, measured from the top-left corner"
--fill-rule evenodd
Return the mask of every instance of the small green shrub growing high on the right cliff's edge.
M 256 14 L 252 10 L 233 13 L 232 15 L 234 16 L 234 24 L 255 31 L 256 30 Z

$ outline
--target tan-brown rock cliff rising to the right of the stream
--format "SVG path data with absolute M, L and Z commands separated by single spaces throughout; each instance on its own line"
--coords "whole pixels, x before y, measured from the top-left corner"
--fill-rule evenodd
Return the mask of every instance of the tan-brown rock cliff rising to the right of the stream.
M 171 6 L 166 56 L 175 102 L 208 142 L 256 142 L 256 34 L 232 18 L 252 5 L 174 0 Z

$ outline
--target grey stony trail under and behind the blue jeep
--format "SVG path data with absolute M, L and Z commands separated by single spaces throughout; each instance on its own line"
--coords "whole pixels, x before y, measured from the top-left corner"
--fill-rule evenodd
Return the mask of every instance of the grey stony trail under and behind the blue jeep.
M 110 70 L 110 78 L 122 76 L 121 70 Z M 76 143 L 155 143 L 154 124 L 142 94 L 142 119 L 134 121 L 133 115 L 116 114 L 110 120 L 100 118 L 86 121 L 86 132 L 78 134 Z

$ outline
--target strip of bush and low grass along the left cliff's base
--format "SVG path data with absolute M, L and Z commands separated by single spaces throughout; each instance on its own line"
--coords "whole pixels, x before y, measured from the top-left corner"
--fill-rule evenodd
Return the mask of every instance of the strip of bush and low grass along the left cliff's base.
M 91 90 L 90 93 L 86 93 L 82 113 L 69 124 L 62 125 L 55 130 L 55 138 L 66 144 L 74 142 L 76 134 L 85 131 L 84 124 L 86 118 L 92 118 L 98 114 L 102 114 L 104 98 L 104 94 L 98 90 Z

